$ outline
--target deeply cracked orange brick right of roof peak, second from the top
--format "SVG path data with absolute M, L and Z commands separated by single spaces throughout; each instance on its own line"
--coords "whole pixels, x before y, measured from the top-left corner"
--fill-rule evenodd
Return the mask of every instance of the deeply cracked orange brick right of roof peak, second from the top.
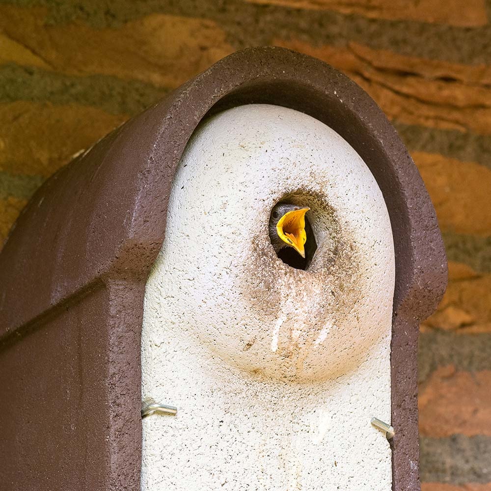
M 482 76 L 482 82 L 466 83 L 459 80 L 442 80 L 436 73 L 442 72 L 442 63 L 433 60 L 393 55 L 386 50 L 371 50 L 356 44 L 346 48 L 329 45 L 311 46 L 295 39 L 276 39 L 275 44 L 316 56 L 344 71 L 363 87 L 381 106 L 389 119 L 406 124 L 432 128 L 474 131 L 483 135 L 491 134 L 491 87 L 489 67 L 468 67 L 469 77 Z M 377 61 L 374 61 L 377 58 Z M 408 66 L 417 71 L 408 75 L 407 69 L 394 66 Z M 422 65 L 420 69 L 416 67 Z M 464 72 L 460 64 L 449 63 L 446 72 L 455 69 L 458 77 Z M 434 79 L 429 74 L 434 73 Z M 443 72 L 445 73 L 445 72 Z

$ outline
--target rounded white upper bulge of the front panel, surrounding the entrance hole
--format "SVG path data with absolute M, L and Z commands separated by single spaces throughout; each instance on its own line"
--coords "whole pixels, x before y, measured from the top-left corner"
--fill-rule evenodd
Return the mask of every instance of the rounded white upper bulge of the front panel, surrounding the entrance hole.
M 306 247 L 306 269 L 272 245 L 278 202 L 309 208 L 316 248 Z M 332 129 L 293 109 L 247 105 L 194 132 L 150 279 L 166 325 L 256 376 L 329 379 L 390 343 L 394 275 L 382 192 Z

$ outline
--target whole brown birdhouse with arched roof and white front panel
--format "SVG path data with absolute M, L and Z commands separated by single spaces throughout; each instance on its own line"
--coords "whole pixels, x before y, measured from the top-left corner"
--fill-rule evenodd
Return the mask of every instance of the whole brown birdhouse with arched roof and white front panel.
M 57 172 L 0 254 L 11 489 L 419 489 L 435 212 L 323 62 L 228 56 Z

